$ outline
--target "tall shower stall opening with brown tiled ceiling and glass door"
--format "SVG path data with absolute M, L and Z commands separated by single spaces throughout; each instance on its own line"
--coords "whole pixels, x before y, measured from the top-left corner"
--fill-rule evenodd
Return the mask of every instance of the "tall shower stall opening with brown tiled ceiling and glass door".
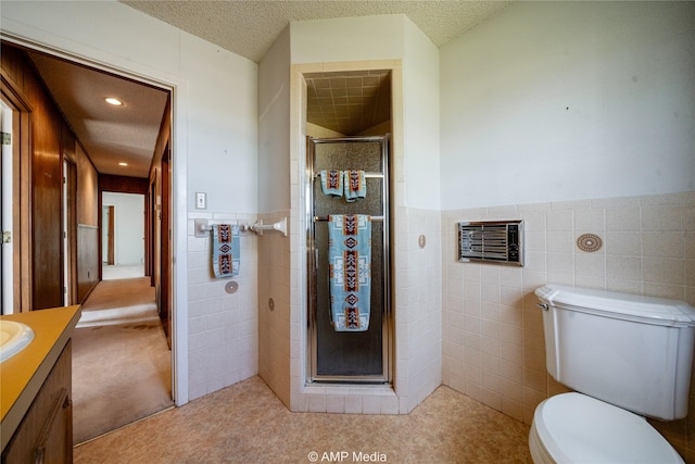
M 393 70 L 380 67 L 383 63 L 372 64 L 374 68 L 354 70 L 348 65 L 350 71 L 302 74 L 306 84 L 307 136 L 307 384 L 390 386 L 393 380 L 390 253 Z M 330 171 L 364 176 L 364 199 L 352 201 L 326 195 L 320 173 Z M 336 221 L 341 217 L 358 217 L 357 221 L 369 223 L 364 227 L 370 236 L 364 259 L 366 264 L 361 263 L 356 273 L 359 286 L 369 288 L 368 294 L 353 294 L 345 286 L 339 290 L 340 286 L 336 284 L 340 280 L 336 269 L 350 262 L 348 256 L 340 262 L 334 247 L 329 246 L 329 242 L 336 243 L 334 236 L 329 234 L 339 227 Z M 357 239 L 362 242 L 364 236 Z M 348 267 L 343 267 L 345 269 Z M 344 281 L 349 279 L 344 274 Z M 351 302 L 359 299 L 359 308 L 355 311 Z M 339 308 L 339 300 L 345 302 L 345 308 Z M 362 317 L 368 325 L 362 326 L 359 322 L 358 330 L 353 331 L 354 327 L 348 330 L 342 321 L 349 317 Z

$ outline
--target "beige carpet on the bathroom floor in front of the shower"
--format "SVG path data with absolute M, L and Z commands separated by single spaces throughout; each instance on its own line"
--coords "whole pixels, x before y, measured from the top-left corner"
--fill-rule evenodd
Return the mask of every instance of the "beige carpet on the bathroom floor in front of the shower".
M 292 413 L 252 377 L 77 447 L 74 462 L 531 463 L 528 434 L 447 387 L 408 415 Z

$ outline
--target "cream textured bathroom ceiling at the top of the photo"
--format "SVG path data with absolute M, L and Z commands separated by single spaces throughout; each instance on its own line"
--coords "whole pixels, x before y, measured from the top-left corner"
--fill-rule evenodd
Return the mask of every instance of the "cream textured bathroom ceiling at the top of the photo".
M 437 47 L 501 12 L 509 1 L 459 0 L 119 0 L 260 62 L 290 21 L 405 14 Z

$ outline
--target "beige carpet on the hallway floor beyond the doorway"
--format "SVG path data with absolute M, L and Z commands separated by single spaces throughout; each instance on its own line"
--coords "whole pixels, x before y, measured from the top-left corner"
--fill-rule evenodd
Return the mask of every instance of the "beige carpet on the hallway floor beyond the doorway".
M 170 373 L 149 277 L 99 283 L 73 336 L 73 442 L 172 406 Z

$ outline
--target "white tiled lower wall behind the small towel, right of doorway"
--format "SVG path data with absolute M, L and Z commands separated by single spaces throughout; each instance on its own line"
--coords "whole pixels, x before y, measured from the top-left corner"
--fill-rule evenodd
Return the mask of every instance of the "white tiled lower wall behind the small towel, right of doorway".
M 243 214 L 188 214 L 188 346 L 189 398 L 203 397 L 257 373 L 257 238 L 252 233 L 240 238 L 239 275 L 215 278 L 212 271 L 212 234 L 195 237 L 194 220 L 220 223 L 255 216 Z M 227 293 L 229 280 L 239 284 Z

